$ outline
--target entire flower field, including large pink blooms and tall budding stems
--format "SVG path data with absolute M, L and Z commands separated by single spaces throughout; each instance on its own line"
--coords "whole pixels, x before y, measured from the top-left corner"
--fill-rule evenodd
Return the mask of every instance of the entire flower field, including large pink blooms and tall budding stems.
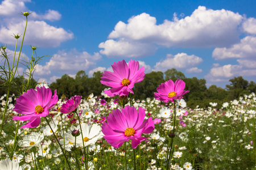
M 30 13 L 22 15 L 27 23 Z M 58 97 L 47 83 L 35 85 L 32 74 L 43 57 L 33 57 L 31 47 L 20 87 L 20 52 L 11 63 L 6 46 L 0 49 L 7 88 L 0 98 L 0 169 L 256 169 L 254 93 L 191 109 L 185 82 L 170 79 L 135 100 L 134 84 L 145 73 L 131 59 L 104 71 L 100 82 L 110 88 L 100 96 Z

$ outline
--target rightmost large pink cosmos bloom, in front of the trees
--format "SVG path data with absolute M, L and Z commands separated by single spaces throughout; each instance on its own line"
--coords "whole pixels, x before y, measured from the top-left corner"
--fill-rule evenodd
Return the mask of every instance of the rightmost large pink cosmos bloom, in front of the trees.
M 162 100 L 165 103 L 168 103 L 168 101 L 174 102 L 176 99 L 182 99 L 183 95 L 189 92 L 185 91 L 184 88 L 185 82 L 183 82 L 183 80 L 176 80 L 175 83 L 172 80 L 168 80 L 156 88 L 158 93 L 154 92 L 154 97 L 155 99 Z

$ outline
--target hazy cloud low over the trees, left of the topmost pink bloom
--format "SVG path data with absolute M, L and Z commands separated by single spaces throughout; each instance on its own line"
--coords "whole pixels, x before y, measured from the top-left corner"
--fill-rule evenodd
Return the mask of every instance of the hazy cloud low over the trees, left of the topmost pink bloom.
M 76 75 L 79 70 L 90 70 L 96 66 L 96 62 L 102 57 L 99 53 L 94 53 L 93 55 L 87 52 L 77 52 L 76 49 L 73 49 L 69 52 L 64 50 L 59 51 L 57 54 L 54 54 L 49 62 L 46 62 L 45 65 L 36 66 L 34 76 L 36 78 L 49 78 L 54 80 L 56 77 L 53 75 L 56 74 L 69 74 Z

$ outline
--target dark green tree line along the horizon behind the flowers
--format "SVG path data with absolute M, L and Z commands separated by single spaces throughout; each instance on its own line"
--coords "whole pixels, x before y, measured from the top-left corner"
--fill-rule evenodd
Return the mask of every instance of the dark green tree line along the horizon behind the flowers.
M 84 70 L 77 72 L 75 78 L 64 74 L 60 79 L 56 79 L 56 82 L 49 84 L 52 92 L 57 89 L 57 95 L 61 97 L 65 95 L 67 97 L 72 97 L 75 95 L 81 95 L 86 97 L 90 94 L 100 96 L 101 92 L 108 88 L 100 83 L 102 73 L 97 71 L 93 73 L 93 76 L 89 76 Z M 21 79 L 21 78 L 20 78 Z M 226 85 L 226 88 L 217 87 L 212 85 L 209 88 L 206 86 L 205 79 L 197 79 L 196 77 L 187 78 L 181 71 L 176 69 L 168 69 L 164 73 L 162 71 L 152 71 L 147 73 L 145 78 L 140 83 L 135 83 L 133 88 L 134 99 L 146 99 L 154 97 L 154 92 L 159 84 L 172 79 L 174 82 L 177 79 L 182 79 L 186 83 L 185 90 L 190 92 L 184 96 L 185 101 L 187 101 L 187 106 L 190 108 L 196 108 L 199 105 L 200 108 L 205 108 L 209 106 L 209 103 L 218 103 L 218 107 L 221 108 L 222 103 L 234 99 L 243 94 L 250 94 L 256 91 L 256 83 L 243 79 L 242 76 L 234 77 L 229 80 L 230 84 Z M 26 81 L 24 79 L 19 80 Z M 4 84 L 4 82 L 1 82 Z M 15 89 L 13 91 L 15 93 Z M 0 94 L 5 94 L 5 89 L 1 88 Z

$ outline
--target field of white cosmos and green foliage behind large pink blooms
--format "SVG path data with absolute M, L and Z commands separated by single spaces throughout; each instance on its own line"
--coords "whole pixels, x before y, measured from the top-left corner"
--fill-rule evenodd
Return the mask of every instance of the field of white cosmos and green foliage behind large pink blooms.
M 14 103 L 15 97 L 9 97 Z M 1 97 L 1 109 L 5 107 L 6 97 Z M 81 100 L 77 113 L 63 114 L 63 97 L 49 112 L 47 119 L 65 148 L 67 161 L 72 169 L 125 169 L 125 145 L 127 169 L 166 169 L 167 147 L 173 130 L 174 104 L 161 103 L 156 99 L 132 100 L 136 109 L 145 110 L 145 119 L 155 120 L 155 129 L 143 135 L 147 139 L 135 149 L 129 142 L 118 148 L 109 145 L 102 138 L 101 126 L 112 110 L 120 109 L 117 100 L 103 96 L 86 96 Z M 186 107 L 183 99 L 176 102 L 176 132 L 174 137 L 174 156 L 171 169 L 253 169 L 255 168 L 255 94 L 243 96 L 240 100 L 225 103 L 223 109 Z M 1 134 L 1 167 L 3 160 L 13 160 L 20 169 L 69 169 L 64 155 L 53 136 L 53 131 L 42 118 L 37 128 L 18 128 L 14 143 L 17 121 L 14 105 L 8 105 L 8 115 L 3 122 Z M 85 142 L 85 152 L 81 134 L 72 136 L 73 130 L 80 130 L 80 116 Z M 183 121 L 183 124 L 180 122 Z M 22 123 L 23 124 L 23 123 Z M 81 130 L 80 130 L 81 131 Z M 64 135 L 63 135 L 64 134 Z M 77 138 L 77 141 L 75 141 Z M 65 142 L 64 142 L 65 140 Z M 76 145 L 75 145 L 76 142 Z M 64 146 L 65 143 L 65 146 Z M 135 155 L 135 158 L 134 158 Z M 86 159 L 85 159 L 86 158 Z M 101 167 L 101 168 L 100 168 Z

